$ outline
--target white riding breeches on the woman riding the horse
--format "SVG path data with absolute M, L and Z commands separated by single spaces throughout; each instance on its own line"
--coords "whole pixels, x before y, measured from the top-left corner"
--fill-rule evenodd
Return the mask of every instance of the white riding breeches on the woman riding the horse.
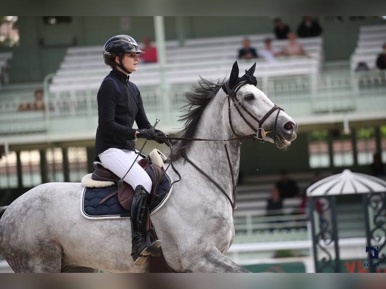
M 99 154 L 98 157 L 104 167 L 112 171 L 119 178 L 122 178 L 137 156 L 138 155 L 133 151 L 111 148 Z M 136 163 L 123 180 L 130 184 L 133 189 L 135 189 L 138 185 L 143 185 L 145 190 L 150 193 L 152 189 L 152 181 L 145 170 L 137 164 L 137 162 L 141 159 L 142 157 L 139 156 Z

